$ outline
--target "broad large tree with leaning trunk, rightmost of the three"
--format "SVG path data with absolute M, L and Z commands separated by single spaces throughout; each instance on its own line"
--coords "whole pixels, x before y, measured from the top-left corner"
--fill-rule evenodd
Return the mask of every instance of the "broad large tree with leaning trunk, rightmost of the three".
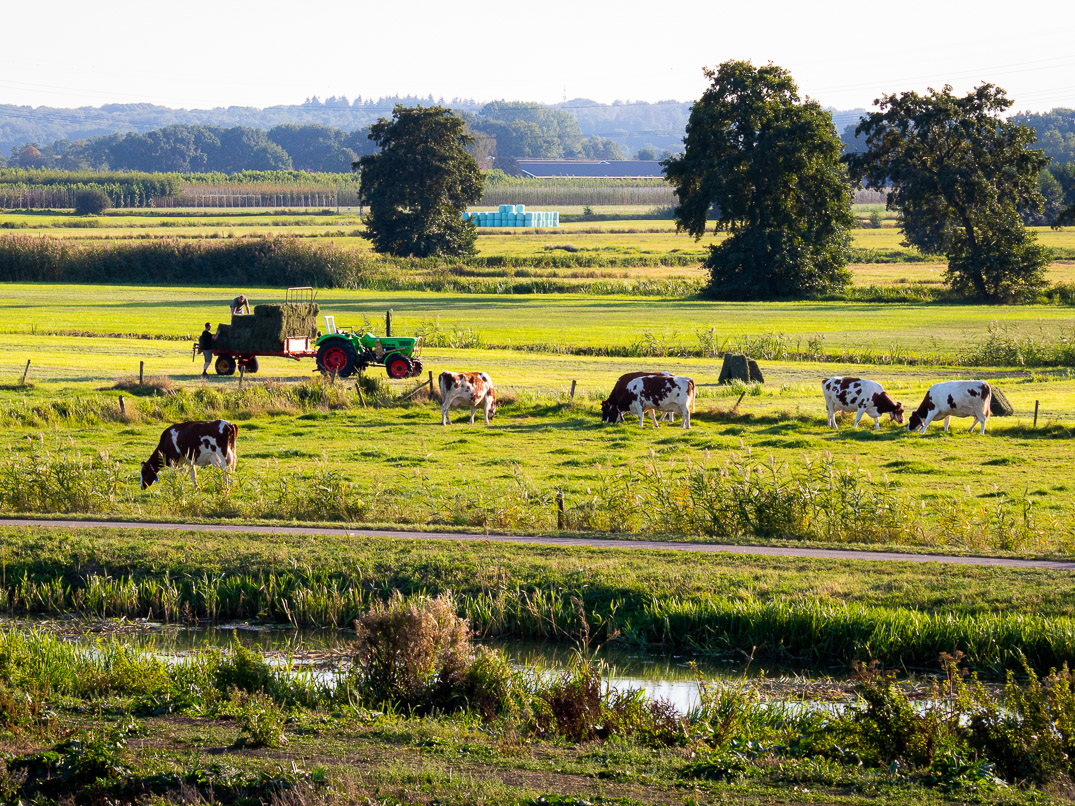
M 888 190 L 906 243 L 948 258 L 945 278 L 961 294 L 1012 301 L 1045 284 L 1048 250 L 1020 210 L 1042 210 L 1038 174 L 1049 158 L 1034 132 L 1001 117 L 1004 90 L 983 84 L 884 96 L 856 129 L 866 150 L 848 157 L 866 187 Z

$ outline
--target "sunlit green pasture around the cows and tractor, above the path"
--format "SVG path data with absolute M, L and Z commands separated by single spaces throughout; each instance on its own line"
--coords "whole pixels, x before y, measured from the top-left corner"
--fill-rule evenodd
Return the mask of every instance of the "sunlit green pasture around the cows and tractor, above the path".
M 257 302 L 259 294 L 247 291 Z M 278 291 L 262 291 L 278 298 Z M 334 313 L 338 323 L 348 323 L 344 314 L 349 308 L 354 323 L 361 321 L 363 312 L 379 326 L 379 312 L 391 306 L 397 312 L 397 333 L 413 332 L 421 322 L 441 316 L 442 329 L 474 327 L 488 343 L 502 341 L 497 348 L 425 349 L 424 361 L 434 375 L 445 369 L 484 370 L 497 382 L 502 398 L 500 413 L 490 428 L 462 422 L 461 411 L 454 413 L 457 424 L 443 428 L 435 403 L 361 408 L 352 382 L 338 385 L 339 394 L 345 399 L 338 406 L 298 402 L 287 390 L 314 376 L 311 360 L 264 359 L 262 370 L 245 379 L 244 392 L 239 391 L 235 376 L 214 375 L 202 380 L 198 377 L 201 362 L 191 362 L 189 343 L 182 340 L 180 328 L 189 327 L 188 332 L 192 332 L 206 318 L 224 318 L 212 313 L 224 312 L 226 301 L 219 299 L 219 291 L 125 288 L 116 293 L 113 288 L 4 286 L 0 292 L 5 294 L 0 302 L 0 330 L 6 331 L 8 346 L 0 354 L 0 423 L 5 429 L 6 446 L 0 464 L 8 462 L 0 476 L 19 472 L 16 460 L 23 461 L 34 450 L 83 457 L 103 451 L 110 461 L 118 462 L 115 484 L 121 491 L 119 503 L 102 505 L 104 510 L 113 506 L 120 514 L 169 514 L 172 504 L 162 498 L 167 494 L 160 491 L 163 488 L 149 493 L 137 490 L 139 462 L 148 456 L 169 422 L 225 416 L 241 427 L 241 483 L 228 499 L 232 517 L 339 517 L 366 522 L 372 518 L 377 522 L 463 526 L 481 524 L 487 518 L 487 527 L 549 529 L 556 524 L 549 502 L 557 490 L 563 490 L 569 512 L 604 507 L 601 517 L 579 510 L 579 520 L 573 521 L 578 528 L 600 528 L 604 522 L 604 529 L 611 531 L 653 533 L 661 528 L 630 521 L 626 516 L 620 520 L 612 517 L 620 504 L 603 499 L 593 502 L 610 491 L 629 492 L 632 485 L 645 487 L 649 491 L 643 492 L 650 494 L 658 484 L 655 473 L 682 479 L 689 466 L 716 469 L 727 464 L 732 473 L 739 473 L 774 462 L 777 477 L 785 473 L 790 477 L 816 473 L 818 467 L 833 462 L 841 472 L 861 474 L 859 481 L 849 481 L 854 494 L 863 492 L 855 486 L 860 483 L 874 491 L 879 485 L 903 502 L 901 505 L 915 501 L 937 506 L 955 502 L 960 507 L 976 508 L 981 517 L 1000 501 L 1026 501 L 1036 514 L 1034 517 L 1042 515 L 1054 523 L 1041 527 L 1038 537 L 1013 543 L 992 532 L 974 537 L 975 524 L 971 521 L 938 526 L 940 516 L 931 510 L 922 515 L 922 534 L 902 535 L 897 543 L 969 550 L 1067 550 L 1066 527 L 1062 524 L 1070 523 L 1075 502 L 1075 487 L 1066 478 L 1075 461 L 1075 377 L 1066 370 L 1029 372 L 1003 366 L 954 369 L 932 363 L 871 365 L 771 359 L 761 362 L 766 375 L 763 387 L 736 388 L 716 386 L 720 366 L 716 358 L 610 358 L 507 348 L 507 344 L 518 347 L 541 339 L 554 348 L 558 344 L 627 346 L 633 340 L 628 341 L 626 334 L 637 333 L 637 320 L 649 312 L 661 311 L 665 322 L 683 323 L 684 319 L 690 321 L 691 316 L 704 314 L 718 318 L 697 319 L 700 328 L 706 321 L 714 321 L 713 327 L 719 321 L 734 321 L 740 332 L 752 330 L 760 334 L 777 322 L 788 327 L 796 316 L 813 326 L 825 323 L 833 331 L 842 325 L 841 332 L 854 333 L 850 321 L 857 317 L 861 333 L 880 336 L 879 341 L 865 343 L 877 350 L 933 328 L 945 335 L 931 339 L 929 350 L 958 352 L 960 344 L 965 346 L 987 332 L 987 316 L 973 307 L 710 306 L 721 312 L 716 313 L 693 303 L 640 303 L 627 299 L 604 305 L 570 297 L 497 299 L 490 304 L 485 298 L 460 296 L 322 296 L 324 308 Z M 892 308 L 900 310 L 902 319 L 894 314 L 886 318 Z M 1015 317 L 1009 319 L 1013 327 L 1058 332 L 1072 327 L 1070 317 L 1064 318 L 1059 308 L 1006 308 L 1003 313 Z M 847 319 L 832 321 L 838 314 Z M 916 317 L 918 331 L 912 327 Z M 946 330 L 942 321 L 947 322 Z M 526 323 L 521 334 L 515 329 L 520 322 Z M 72 323 L 81 326 L 80 332 L 84 333 L 119 333 L 126 326 L 127 332 L 172 337 L 47 332 L 48 328 L 62 331 Z M 889 332 L 877 332 L 883 325 Z M 732 332 L 731 326 L 727 327 L 725 332 Z M 665 331 L 657 332 L 668 335 Z M 678 332 L 685 340 L 693 336 L 686 327 Z M 697 336 L 692 341 L 697 342 Z M 857 348 L 864 349 L 862 345 Z M 27 359 L 31 360 L 32 386 L 23 388 L 19 379 Z M 120 390 L 112 387 L 119 379 L 130 382 L 137 376 L 139 361 L 145 362 L 147 376 L 164 376 L 170 387 L 164 384 L 162 393 L 156 397 L 152 389 L 127 390 L 124 393 L 129 415 L 120 416 Z M 640 430 L 636 422 L 618 427 L 599 422 L 598 402 L 615 378 L 640 368 L 668 369 L 696 379 L 699 404 L 694 428 L 688 432 L 678 427 L 655 431 L 651 426 Z M 384 378 L 376 370 L 371 374 Z M 852 431 L 847 417 L 841 430 L 833 432 L 826 427 L 820 394 L 820 380 L 833 374 L 882 380 L 908 409 L 917 405 L 931 383 L 981 377 L 1005 391 L 1017 416 L 993 419 L 984 438 L 963 433 L 968 422 L 958 419 L 949 435 L 943 434 L 940 424 L 924 437 L 888 423 L 880 433 L 865 427 Z M 576 387 L 572 400 L 569 395 L 573 380 Z M 385 402 L 415 385 L 415 380 L 389 384 Z M 736 412 L 730 413 L 744 391 Z M 1037 429 L 1032 427 L 1035 401 L 1040 403 Z M 393 510 L 378 503 L 371 504 L 364 515 L 356 510 L 358 514 L 331 517 L 317 505 L 305 515 L 264 508 L 266 491 L 282 484 L 281 479 L 297 484 L 301 490 L 297 494 L 320 494 L 309 486 L 312 472 L 336 479 L 330 489 L 352 485 L 346 488 L 350 492 L 339 492 L 345 489 L 339 488 L 341 496 L 368 496 L 369 501 L 399 503 L 399 507 Z M 306 481 L 299 484 L 297 479 L 303 476 Z M 183 494 L 190 495 L 191 491 Z M 873 533 L 859 537 L 842 533 L 837 542 L 879 539 Z

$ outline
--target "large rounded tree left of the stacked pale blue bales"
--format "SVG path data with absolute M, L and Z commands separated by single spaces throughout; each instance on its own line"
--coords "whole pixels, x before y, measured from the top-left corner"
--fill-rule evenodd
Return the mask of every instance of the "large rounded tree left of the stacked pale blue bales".
M 473 254 L 477 232 L 462 212 L 482 200 L 483 183 L 462 119 L 443 106 L 397 106 L 391 120 L 370 127 L 370 140 L 381 150 L 354 168 L 361 171 L 374 248 L 416 257 Z

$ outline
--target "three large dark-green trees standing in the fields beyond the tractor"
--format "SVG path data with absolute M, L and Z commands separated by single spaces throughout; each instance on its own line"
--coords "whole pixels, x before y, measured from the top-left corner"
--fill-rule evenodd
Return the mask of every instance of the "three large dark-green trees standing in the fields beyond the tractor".
M 801 99 L 783 68 L 728 61 L 705 74 L 684 153 L 663 164 L 678 196 L 677 227 L 701 238 L 712 218 L 729 233 L 710 247 L 710 296 L 846 287 L 856 185 L 888 192 L 906 243 L 947 257 L 954 291 L 1014 301 L 1044 286 L 1049 255 L 1022 212 L 1043 210 L 1038 176 L 1049 158 L 1031 147 L 1032 129 L 1001 116 L 1012 105 L 1004 90 L 885 96 L 858 126 L 864 148 L 844 155 L 831 116 Z M 443 107 L 397 107 L 370 136 L 379 150 L 355 167 L 376 248 L 471 254 L 474 227 L 460 213 L 481 199 L 482 182 L 464 121 Z

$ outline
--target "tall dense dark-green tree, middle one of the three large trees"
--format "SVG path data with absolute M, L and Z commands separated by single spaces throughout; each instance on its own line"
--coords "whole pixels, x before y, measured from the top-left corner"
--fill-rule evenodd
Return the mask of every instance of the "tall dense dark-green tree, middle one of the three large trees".
M 690 111 L 685 149 L 664 161 L 676 227 L 696 239 L 711 213 L 729 238 L 710 247 L 707 294 L 808 297 L 850 282 L 850 185 L 832 116 L 799 98 L 775 64 L 726 61 Z

